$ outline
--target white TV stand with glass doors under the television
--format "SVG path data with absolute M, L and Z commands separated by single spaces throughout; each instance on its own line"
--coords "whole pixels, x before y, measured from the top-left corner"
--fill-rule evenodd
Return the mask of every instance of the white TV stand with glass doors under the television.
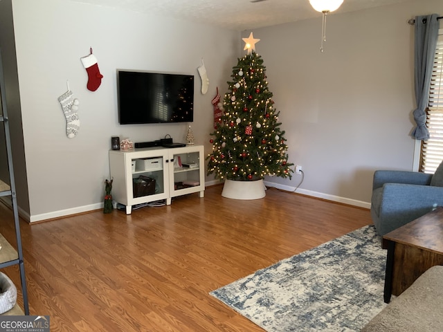
M 170 205 L 172 197 L 195 192 L 204 197 L 203 145 L 110 150 L 109 168 L 114 178 L 112 197 L 126 205 L 126 214 L 136 204 L 165 199 Z M 154 179 L 155 185 L 143 177 Z

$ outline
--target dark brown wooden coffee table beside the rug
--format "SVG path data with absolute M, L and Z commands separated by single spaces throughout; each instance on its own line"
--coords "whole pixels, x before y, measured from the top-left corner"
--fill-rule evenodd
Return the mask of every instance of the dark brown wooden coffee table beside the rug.
M 383 248 L 388 249 L 384 301 L 389 303 L 428 268 L 443 265 L 443 208 L 385 234 Z

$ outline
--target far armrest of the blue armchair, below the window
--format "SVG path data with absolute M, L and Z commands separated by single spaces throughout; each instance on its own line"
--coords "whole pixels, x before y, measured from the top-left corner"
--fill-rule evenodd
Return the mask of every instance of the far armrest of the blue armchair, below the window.
M 378 170 L 374 172 L 372 190 L 383 187 L 385 183 L 408 183 L 410 185 L 429 185 L 433 174 L 409 171 Z

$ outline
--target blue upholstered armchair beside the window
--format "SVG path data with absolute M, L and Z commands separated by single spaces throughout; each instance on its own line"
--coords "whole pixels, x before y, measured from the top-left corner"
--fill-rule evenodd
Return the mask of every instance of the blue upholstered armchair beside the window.
M 443 163 L 435 174 L 379 170 L 372 183 L 371 216 L 380 235 L 443 205 Z

